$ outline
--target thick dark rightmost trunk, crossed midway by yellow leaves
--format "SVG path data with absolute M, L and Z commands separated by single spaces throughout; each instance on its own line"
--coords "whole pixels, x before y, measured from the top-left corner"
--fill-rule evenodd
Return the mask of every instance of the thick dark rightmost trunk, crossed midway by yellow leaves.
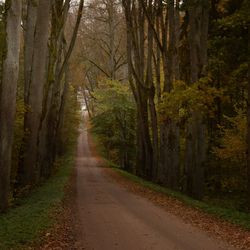
M 190 84 L 206 74 L 208 2 L 190 2 L 189 47 L 190 47 Z M 206 126 L 200 110 L 193 111 L 186 134 L 185 174 L 186 192 L 201 199 L 204 189 L 204 164 L 206 160 Z

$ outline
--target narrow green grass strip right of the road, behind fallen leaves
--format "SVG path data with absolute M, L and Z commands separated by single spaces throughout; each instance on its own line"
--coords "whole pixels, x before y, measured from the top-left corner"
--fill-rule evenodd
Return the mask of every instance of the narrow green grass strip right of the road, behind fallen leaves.
M 235 225 L 241 226 L 244 229 L 250 230 L 250 214 L 237 211 L 233 208 L 224 208 L 219 206 L 213 206 L 211 204 L 205 203 L 203 201 L 198 201 L 190 198 L 180 192 L 172 191 L 168 188 L 162 187 L 150 181 L 146 181 L 138 176 L 130 174 L 124 170 L 121 170 L 114 166 L 114 164 L 110 165 L 115 171 L 121 174 L 123 177 L 141 185 L 148 189 L 151 189 L 155 192 L 165 194 L 172 198 L 182 201 L 184 204 L 199 209 L 208 214 L 215 215 L 216 217 L 226 220 Z

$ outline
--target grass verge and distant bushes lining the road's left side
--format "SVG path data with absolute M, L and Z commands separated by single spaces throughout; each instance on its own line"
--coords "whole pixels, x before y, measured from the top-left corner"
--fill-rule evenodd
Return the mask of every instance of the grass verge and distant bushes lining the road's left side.
M 0 249 L 27 249 L 39 245 L 46 231 L 59 223 L 66 185 L 73 172 L 80 124 L 80 105 L 74 89 L 69 90 L 62 127 L 61 155 L 52 166 L 52 175 L 32 190 L 17 189 L 11 208 L 0 214 Z

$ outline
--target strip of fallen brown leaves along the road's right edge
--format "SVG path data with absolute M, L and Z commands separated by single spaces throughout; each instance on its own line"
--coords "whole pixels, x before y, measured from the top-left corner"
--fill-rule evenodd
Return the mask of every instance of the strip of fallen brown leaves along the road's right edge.
M 105 173 L 129 192 L 136 193 L 150 200 L 155 205 L 181 218 L 185 223 L 207 232 L 211 237 L 228 242 L 237 249 L 250 249 L 250 231 L 244 230 L 240 226 L 233 225 L 199 209 L 187 206 L 183 202 L 165 194 L 137 184 L 123 177 L 113 169 L 107 168 L 105 169 Z

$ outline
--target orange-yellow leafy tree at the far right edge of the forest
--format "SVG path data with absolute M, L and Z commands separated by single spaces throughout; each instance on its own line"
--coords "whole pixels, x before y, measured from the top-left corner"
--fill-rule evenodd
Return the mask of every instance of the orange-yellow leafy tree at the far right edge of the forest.
M 220 176 L 222 192 L 239 193 L 246 190 L 246 114 L 237 110 L 236 116 L 225 117 L 227 126 L 222 126 L 219 146 L 214 147 L 217 160 L 222 162 L 223 175 Z

